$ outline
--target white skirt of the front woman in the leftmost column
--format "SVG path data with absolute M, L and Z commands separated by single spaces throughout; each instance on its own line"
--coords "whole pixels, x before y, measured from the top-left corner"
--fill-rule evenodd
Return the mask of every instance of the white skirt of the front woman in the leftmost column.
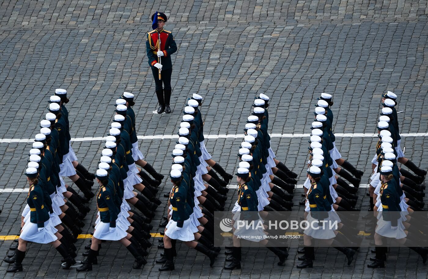
M 45 229 L 39 232 L 37 230 L 37 224 L 31 222 L 25 223 L 19 238 L 40 244 L 47 244 L 57 240 L 58 238 L 55 233 L 58 232 L 58 230 L 52 226 L 52 223 L 48 220 L 44 225 Z

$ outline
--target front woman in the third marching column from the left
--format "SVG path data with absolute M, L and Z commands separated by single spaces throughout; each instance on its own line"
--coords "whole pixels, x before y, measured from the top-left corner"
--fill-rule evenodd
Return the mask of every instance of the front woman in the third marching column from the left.
M 212 267 L 218 253 L 208 249 L 202 243 L 198 243 L 193 235 L 193 224 L 190 219 L 189 211 L 187 211 L 186 199 L 187 190 L 181 186 L 182 175 L 177 169 L 171 170 L 170 173 L 171 182 L 174 185 L 172 188 L 169 202 L 172 206 L 172 216 L 166 225 L 165 234 L 163 235 L 163 243 L 165 246 L 165 257 L 166 262 L 159 271 L 174 270 L 174 254 L 172 249 L 171 240 L 181 240 L 187 246 L 196 249 L 196 251 L 202 252 L 210 258 L 210 266 Z M 188 206 L 188 205 L 187 205 Z

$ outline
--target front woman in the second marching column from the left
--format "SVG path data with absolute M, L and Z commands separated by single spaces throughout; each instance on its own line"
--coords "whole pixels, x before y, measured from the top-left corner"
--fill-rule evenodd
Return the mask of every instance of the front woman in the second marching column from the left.
M 135 264 L 133 268 L 140 269 L 143 264 L 146 264 L 146 260 L 141 255 L 139 247 L 128 240 L 128 238 L 132 237 L 131 234 L 128 234 L 121 228 L 116 228 L 118 208 L 114 203 L 114 193 L 110 192 L 110 189 L 114 188 L 114 185 L 112 185 L 113 181 L 109 179 L 109 175 L 105 169 L 98 169 L 95 176 L 100 185 L 100 190 L 97 194 L 100 222 L 95 226 L 88 257 L 83 261 L 83 265 L 77 268 L 77 271 L 92 270 L 92 263 L 97 262 L 96 257 L 101 240 L 119 240 L 134 256 Z

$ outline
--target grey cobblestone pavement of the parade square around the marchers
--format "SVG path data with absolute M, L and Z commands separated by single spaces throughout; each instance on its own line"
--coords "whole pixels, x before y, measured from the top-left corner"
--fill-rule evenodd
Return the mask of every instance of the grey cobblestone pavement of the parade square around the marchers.
M 114 3 L 112 3 L 114 2 Z M 153 3 L 155 2 L 155 3 Z M 150 15 L 164 11 L 178 44 L 172 56 L 172 110 L 157 115 L 154 82 L 146 59 L 145 39 Z M 138 135 L 175 134 L 185 99 L 204 96 L 205 133 L 241 134 L 253 97 L 271 97 L 272 133 L 308 133 L 312 109 L 320 92 L 334 96 L 335 131 L 372 133 L 380 94 L 398 94 L 403 133 L 426 133 L 428 113 L 427 1 L 346 0 L 176 0 L 176 1 L 3 1 L 0 3 L 0 138 L 31 138 L 45 114 L 53 89 L 70 93 L 72 137 L 105 135 L 114 100 L 123 91 L 137 95 Z M 239 139 L 207 140 L 214 160 L 233 173 Z M 337 138 L 349 161 L 365 169 L 369 183 L 372 138 Z M 140 140 L 155 169 L 169 171 L 172 140 Z M 406 157 L 428 168 L 427 137 L 403 138 Z M 84 166 L 95 171 L 101 141 L 72 142 Z M 304 181 L 307 138 L 273 138 L 277 157 Z M 30 145 L 0 143 L 0 189 L 24 188 L 22 175 Z M 70 181 L 68 181 L 70 183 Z M 162 184 L 162 187 L 165 184 Z M 168 187 L 160 194 L 166 192 Z M 360 189 L 363 210 L 366 189 Z M 301 189 L 296 190 L 295 210 Z M 25 193 L 1 193 L 0 235 L 19 231 Z M 166 200 L 161 197 L 160 199 Z M 229 192 L 226 208 L 235 193 Z M 426 200 L 425 202 L 427 202 Z M 95 212 L 95 204 L 91 208 Z M 152 224 L 158 224 L 164 206 Z M 95 215 L 95 214 L 94 214 Z M 86 217 L 84 233 L 94 217 Z M 92 220 L 90 220 L 92 219 Z M 200 253 L 180 246 L 174 272 L 158 272 L 157 239 L 143 270 L 132 270 L 126 249 L 113 243 L 101 250 L 100 264 L 88 273 L 59 268 L 60 256 L 47 245 L 33 243 L 24 272 L 0 278 L 426 278 L 427 265 L 409 249 L 391 249 L 386 269 L 366 267 L 372 254 L 362 248 L 351 266 L 336 250 L 318 249 L 314 268 L 297 270 L 296 249 L 285 266 L 276 266 L 267 249 L 244 249 L 242 270 L 223 270 L 224 255 L 214 267 Z M 0 241 L 0 255 L 12 242 Z M 87 240 L 77 246 L 83 252 Z M 106 243 L 107 244 L 107 243 Z M 108 246 L 108 245 L 106 245 Z M 80 255 L 77 259 L 83 259 Z

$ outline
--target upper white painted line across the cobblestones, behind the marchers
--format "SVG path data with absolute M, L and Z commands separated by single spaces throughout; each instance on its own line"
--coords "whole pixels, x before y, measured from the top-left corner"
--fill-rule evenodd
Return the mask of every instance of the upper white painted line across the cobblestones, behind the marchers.
M 368 133 L 337 133 L 335 137 L 377 137 L 377 134 Z M 401 137 L 428 137 L 428 133 L 408 133 L 400 134 Z M 243 139 L 244 134 L 219 134 L 219 135 L 204 135 L 205 139 Z M 310 134 L 270 134 L 271 138 L 299 138 L 299 137 L 310 137 Z M 154 135 L 154 136 L 137 136 L 139 140 L 171 140 L 178 139 L 178 135 Z M 85 141 L 102 141 L 106 137 L 77 137 L 71 138 L 72 142 L 85 142 Z M 0 139 L 0 143 L 11 143 L 11 142 L 24 142 L 32 143 L 34 139 Z

